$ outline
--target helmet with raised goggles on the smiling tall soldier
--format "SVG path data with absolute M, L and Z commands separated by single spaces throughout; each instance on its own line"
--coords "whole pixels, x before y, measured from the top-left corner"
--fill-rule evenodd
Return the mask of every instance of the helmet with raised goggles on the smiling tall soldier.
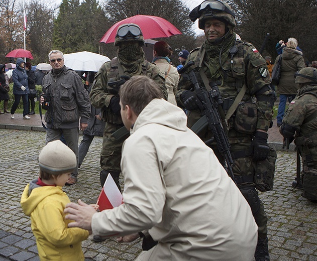
M 231 7 L 219 0 L 206 0 L 195 7 L 189 14 L 192 22 L 198 21 L 198 27 L 204 29 L 204 23 L 207 19 L 214 18 L 220 21 L 226 21 L 230 29 L 236 26 L 235 14 Z

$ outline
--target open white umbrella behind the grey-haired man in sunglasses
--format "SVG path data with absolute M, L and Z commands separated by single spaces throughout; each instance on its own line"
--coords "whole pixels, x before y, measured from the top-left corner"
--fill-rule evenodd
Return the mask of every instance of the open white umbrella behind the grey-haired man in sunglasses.
M 74 71 L 97 72 L 108 61 L 110 59 L 107 56 L 87 51 L 64 54 L 65 65 Z

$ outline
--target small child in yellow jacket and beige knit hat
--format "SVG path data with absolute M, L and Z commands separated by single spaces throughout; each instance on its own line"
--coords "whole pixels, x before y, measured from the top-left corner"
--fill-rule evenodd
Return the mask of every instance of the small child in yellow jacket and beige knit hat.
M 81 241 L 87 230 L 68 228 L 64 208 L 70 200 L 62 187 L 77 164 L 76 156 L 61 141 L 48 143 L 39 155 L 40 177 L 28 184 L 21 197 L 41 260 L 84 260 Z

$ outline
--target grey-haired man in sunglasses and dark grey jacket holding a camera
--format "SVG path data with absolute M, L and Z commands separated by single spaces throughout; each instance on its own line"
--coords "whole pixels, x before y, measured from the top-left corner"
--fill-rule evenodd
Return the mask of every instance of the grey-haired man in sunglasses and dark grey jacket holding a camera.
M 61 51 L 51 51 L 48 58 L 53 69 L 43 78 L 41 96 L 42 105 L 49 104 L 45 113 L 46 144 L 63 136 L 67 146 L 75 153 L 77 167 L 66 183 L 73 185 L 78 176 L 78 122 L 80 120 L 79 128 L 84 131 L 90 116 L 89 95 L 80 76 L 64 65 Z

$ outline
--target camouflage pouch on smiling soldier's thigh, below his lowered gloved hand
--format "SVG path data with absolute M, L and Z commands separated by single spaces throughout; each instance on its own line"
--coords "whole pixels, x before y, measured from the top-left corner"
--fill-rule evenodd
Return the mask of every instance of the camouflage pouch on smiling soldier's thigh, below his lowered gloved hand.
M 273 189 L 276 151 L 270 147 L 269 156 L 264 161 L 257 161 L 255 166 L 255 187 L 262 191 Z

